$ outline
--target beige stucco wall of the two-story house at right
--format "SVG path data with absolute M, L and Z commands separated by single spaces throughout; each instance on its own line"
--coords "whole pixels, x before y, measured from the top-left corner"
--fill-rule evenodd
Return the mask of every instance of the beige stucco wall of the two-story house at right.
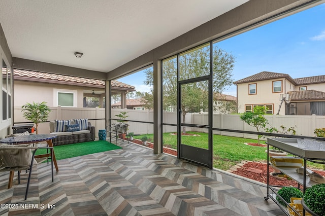
M 282 92 L 273 92 L 273 81 L 282 81 Z M 248 94 L 249 84 L 256 83 L 256 94 Z M 291 90 L 290 90 L 291 88 Z M 293 91 L 294 85 L 285 78 L 241 83 L 237 85 L 238 113 L 245 112 L 245 105 L 273 105 L 273 114 L 276 114 L 280 105 L 280 94 Z M 284 115 L 284 104 L 279 115 Z

